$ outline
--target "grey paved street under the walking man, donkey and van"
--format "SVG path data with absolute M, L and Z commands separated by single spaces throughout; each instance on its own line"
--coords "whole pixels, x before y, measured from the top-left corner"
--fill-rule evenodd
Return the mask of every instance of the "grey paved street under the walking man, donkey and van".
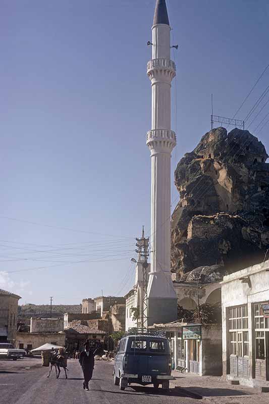
M 68 380 L 64 372 L 57 380 L 54 371 L 47 379 L 48 368 L 40 367 L 40 362 L 40 359 L 0 361 L 0 404 L 194 404 L 203 401 L 191 398 L 187 391 L 173 386 L 169 393 L 142 386 L 120 391 L 113 384 L 113 364 L 110 362 L 95 362 L 90 391 L 85 391 L 78 361 L 68 361 Z

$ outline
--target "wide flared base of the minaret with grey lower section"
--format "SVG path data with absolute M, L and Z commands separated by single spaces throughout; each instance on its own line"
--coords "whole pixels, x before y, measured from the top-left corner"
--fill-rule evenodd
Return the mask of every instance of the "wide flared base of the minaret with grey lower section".
M 148 280 L 148 326 L 176 321 L 178 300 L 170 272 L 150 272 Z

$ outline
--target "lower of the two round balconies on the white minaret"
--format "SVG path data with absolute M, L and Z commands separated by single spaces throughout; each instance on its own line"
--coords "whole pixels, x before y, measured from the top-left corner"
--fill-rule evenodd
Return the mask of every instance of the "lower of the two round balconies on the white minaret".
M 146 144 L 149 148 L 162 148 L 164 151 L 170 151 L 175 147 L 177 142 L 176 133 L 167 129 L 151 129 L 146 134 Z

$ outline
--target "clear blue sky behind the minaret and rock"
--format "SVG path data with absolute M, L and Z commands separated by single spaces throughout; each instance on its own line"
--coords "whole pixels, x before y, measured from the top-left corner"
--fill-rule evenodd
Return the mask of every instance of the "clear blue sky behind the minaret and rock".
M 55 304 L 76 304 L 133 284 L 134 238 L 142 225 L 150 228 L 145 67 L 154 5 L 1 2 L 0 287 L 23 303 L 53 296 Z M 210 94 L 214 113 L 232 117 L 268 65 L 269 3 L 167 5 L 179 44 L 172 54 L 174 171 L 210 129 Z M 246 117 L 268 81 L 269 68 L 237 118 Z M 249 127 L 253 134 L 268 112 L 266 105 Z M 268 129 L 257 135 L 267 150 Z M 177 195 L 173 188 L 173 207 Z

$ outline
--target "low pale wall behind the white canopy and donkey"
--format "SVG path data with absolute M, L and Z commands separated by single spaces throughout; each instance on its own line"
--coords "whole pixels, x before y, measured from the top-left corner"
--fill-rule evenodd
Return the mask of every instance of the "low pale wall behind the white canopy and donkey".
M 27 347 L 28 344 L 32 345 L 32 349 L 38 348 L 45 343 L 52 343 L 60 346 L 65 346 L 65 334 L 59 333 L 30 333 L 30 332 L 18 332 L 16 337 L 16 346 L 19 346 L 20 343 L 23 343 L 24 348 Z

